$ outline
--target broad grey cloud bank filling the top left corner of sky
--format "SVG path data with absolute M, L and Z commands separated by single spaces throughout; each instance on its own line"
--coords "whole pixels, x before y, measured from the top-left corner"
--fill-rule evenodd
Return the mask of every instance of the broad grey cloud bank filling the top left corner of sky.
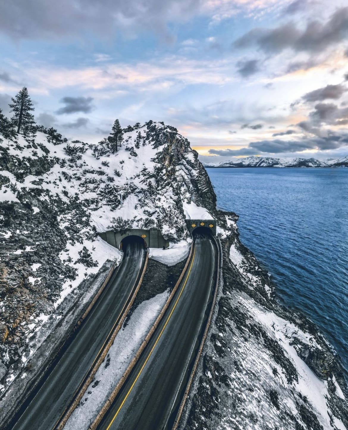
M 86 29 L 104 37 L 147 29 L 169 41 L 168 23 L 182 23 L 201 10 L 200 0 L 16 0 L 0 2 L 0 31 L 15 40 L 68 40 L 85 36 Z

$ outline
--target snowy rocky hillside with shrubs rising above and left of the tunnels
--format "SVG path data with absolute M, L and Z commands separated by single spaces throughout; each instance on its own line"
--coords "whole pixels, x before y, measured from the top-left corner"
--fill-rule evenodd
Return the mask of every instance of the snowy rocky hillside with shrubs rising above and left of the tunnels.
M 156 226 L 176 242 L 188 237 L 185 218 L 211 218 L 215 203 L 197 153 L 162 123 L 125 132 L 116 154 L 107 143 L 57 144 L 41 132 L 2 140 L 0 378 L 25 361 L 28 336 L 74 287 L 120 259 L 97 233 Z

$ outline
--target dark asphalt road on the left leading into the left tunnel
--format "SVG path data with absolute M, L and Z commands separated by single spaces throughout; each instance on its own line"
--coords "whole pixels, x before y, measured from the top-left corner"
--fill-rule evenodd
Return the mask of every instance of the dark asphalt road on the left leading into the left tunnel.
M 49 430 L 55 426 L 118 323 L 137 286 L 145 256 L 146 249 L 141 243 L 127 246 L 119 269 L 13 429 Z

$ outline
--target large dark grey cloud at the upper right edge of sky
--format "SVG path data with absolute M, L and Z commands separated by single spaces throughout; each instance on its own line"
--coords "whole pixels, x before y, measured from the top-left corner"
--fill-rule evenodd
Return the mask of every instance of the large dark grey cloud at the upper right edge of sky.
M 310 21 L 302 30 L 293 22 L 279 27 L 253 28 L 235 40 L 235 48 L 256 46 L 266 53 L 277 53 L 290 48 L 294 51 L 320 52 L 348 37 L 348 7 L 337 9 L 323 24 Z

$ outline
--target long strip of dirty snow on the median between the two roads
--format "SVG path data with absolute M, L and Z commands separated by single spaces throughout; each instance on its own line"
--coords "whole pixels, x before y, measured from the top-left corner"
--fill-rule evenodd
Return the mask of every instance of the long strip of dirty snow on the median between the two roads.
M 90 419 L 94 421 L 162 310 L 167 294 L 165 291 L 143 301 L 134 310 L 127 326 L 117 334 L 107 358 L 95 374 L 94 381 L 87 388 L 88 394 L 84 394 L 79 407 L 75 409 L 64 429 L 87 429 Z

